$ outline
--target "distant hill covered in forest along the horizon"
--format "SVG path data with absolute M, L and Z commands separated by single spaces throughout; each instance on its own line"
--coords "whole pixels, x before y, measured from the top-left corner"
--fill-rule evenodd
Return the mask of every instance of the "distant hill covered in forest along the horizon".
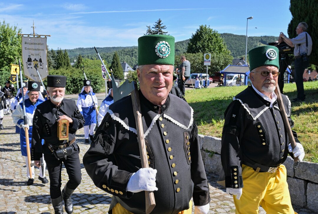
M 231 54 L 234 58 L 245 56 L 246 36 L 235 35 L 231 33 L 222 33 L 221 37 L 224 39 L 227 48 L 231 50 Z M 269 42 L 274 42 L 277 37 L 274 36 L 261 36 L 261 37 L 248 37 L 247 39 L 247 51 L 261 46 L 267 45 Z M 187 51 L 189 39 L 179 41 L 175 43 L 175 54 L 179 55 Z M 108 64 L 112 62 L 114 51 L 117 51 L 121 62 L 126 62 L 130 66 L 135 66 L 138 63 L 138 47 L 104 47 L 97 48 L 100 56 Z M 94 48 L 75 48 L 67 50 L 71 62 L 77 59 L 81 54 L 84 58 L 96 59 L 97 55 Z

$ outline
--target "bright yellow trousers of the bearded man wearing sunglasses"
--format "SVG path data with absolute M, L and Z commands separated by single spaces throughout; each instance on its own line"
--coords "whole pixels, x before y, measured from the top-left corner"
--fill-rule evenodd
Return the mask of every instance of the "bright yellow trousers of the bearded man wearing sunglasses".
M 275 173 L 256 172 L 242 165 L 243 193 L 239 200 L 233 195 L 235 213 L 259 213 L 261 205 L 268 214 L 294 214 L 287 184 L 287 171 L 280 165 Z

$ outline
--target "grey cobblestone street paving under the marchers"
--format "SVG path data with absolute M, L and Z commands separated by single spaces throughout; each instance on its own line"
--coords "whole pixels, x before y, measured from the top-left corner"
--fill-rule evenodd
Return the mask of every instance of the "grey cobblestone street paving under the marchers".
M 0 130 L 0 214 L 24 213 L 54 213 L 50 200 L 49 184 L 42 184 L 38 180 L 39 169 L 35 169 L 34 184 L 26 185 L 25 158 L 21 155 L 19 134 L 15 133 L 15 126 L 11 115 L 4 116 L 4 130 Z M 89 148 L 84 143 L 84 130 L 77 132 L 77 143 L 80 147 L 80 160 Z M 82 182 L 74 191 L 72 200 L 73 213 L 107 213 L 112 195 L 98 189 L 87 175 L 83 164 Z M 46 170 L 46 177 L 48 173 Z M 235 206 L 225 188 L 216 183 L 217 177 L 207 174 L 210 183 L 210 212 L 209 213 L 235 213 Z M 62 169 L 62 187 L 68 180 L 65 168 Z M 299 214 L 311 214 L 306 210 L 295 209 Z M 64 212 L 66 213 L 66 212 Z M 265 213 L 260 208 L 261 214 Z

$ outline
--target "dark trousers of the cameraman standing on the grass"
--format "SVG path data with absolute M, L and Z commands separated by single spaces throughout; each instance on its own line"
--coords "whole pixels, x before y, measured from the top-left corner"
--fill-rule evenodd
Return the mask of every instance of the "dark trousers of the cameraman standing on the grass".
M 306 62 L 302 61 L 301 57 L 298 57 L 295 59 L 295 83 L 297 87 L 297 98 L 300 100 L 305 99 L 304 94 L 304 83 L 303 83 L 303 74 L 306 68 L 309 66 L 309 59 Z

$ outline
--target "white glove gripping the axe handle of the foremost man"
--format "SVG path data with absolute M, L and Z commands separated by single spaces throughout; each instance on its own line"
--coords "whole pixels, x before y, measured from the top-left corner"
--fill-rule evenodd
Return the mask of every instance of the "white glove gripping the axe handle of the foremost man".
M 129 192 L 156 191 L 156 173 L 152 168 L 141 168 L 129 178 L 126 190 Z

